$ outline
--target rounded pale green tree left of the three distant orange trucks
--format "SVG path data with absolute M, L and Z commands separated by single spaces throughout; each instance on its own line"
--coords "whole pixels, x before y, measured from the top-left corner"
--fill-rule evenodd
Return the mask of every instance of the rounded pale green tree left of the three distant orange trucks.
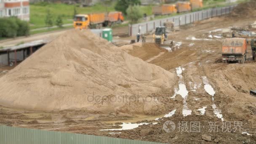
M 138 22 L 138 20 L 143 16 L 139 5 L 130 5 L 126 10 L 126 13 L 132 23 Z

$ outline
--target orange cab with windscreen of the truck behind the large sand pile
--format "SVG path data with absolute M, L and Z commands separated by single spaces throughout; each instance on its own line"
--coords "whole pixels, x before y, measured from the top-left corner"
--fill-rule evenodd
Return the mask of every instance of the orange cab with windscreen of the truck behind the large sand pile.
M 87 29 L 90 25 L 89 16 L 85 14 L 77 14 L 74 18 L 75 29 Z

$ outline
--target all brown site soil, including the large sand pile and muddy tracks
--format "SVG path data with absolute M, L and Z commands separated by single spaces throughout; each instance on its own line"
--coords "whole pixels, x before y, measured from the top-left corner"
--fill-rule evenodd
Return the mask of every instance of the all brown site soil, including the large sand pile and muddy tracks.
M 248 4 L 169 33 L 168 51 L 150 35 L 147 43 L 117 48 L 70 31 L 74 38 L 58 37 L 0 76 L 0 124 L 174 144 L 255 144 L 250 45 L 245 64 L 221 63 L 221 29 L 256 21 L 239 9 Z M 128 39 L 134 37 L 119 38 Z M 106 96 L 84 102 L 92 91 Z M 111 101 L 124 94 L 128 101 Z

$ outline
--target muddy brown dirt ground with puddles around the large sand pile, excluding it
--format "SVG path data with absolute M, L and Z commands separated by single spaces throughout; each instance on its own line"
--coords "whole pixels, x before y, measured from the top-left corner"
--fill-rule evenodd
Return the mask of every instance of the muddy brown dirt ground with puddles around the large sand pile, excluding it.
M 151 95 L 164 105 L 164 113 L 106 114 L 86 109 L 41 112 L 0 107 L 0 124 L 174 144 L 255 144 L 256 97 L 250 95 L 249 90 L 256 89 L 256 63 L 251 61 L 249 45 L 245 64 L 221 63 L 220 48 L 225 37 L 219 36 L 221 28 L 248 27 L 254 21 L 256 19 L 248 17 L 232 19 L 225 16 L 188 24 L 168 35 L 168 39 L 176 45 L 172 51 L 150 46 L 152 52 L 149 53 L 145 48 L 152 45 L 151 36 L 147 36 L 148 43 L 123 47 L 129 54 L 177 74 L 176 84 L 171 90 L 165 89 Z M 134 37 L 117 39 L 128 41 Z M 173 111 L 172 116 L 165 117 L 165 114 Z M 176 129 L 171 133 L 163 130 L 168 120 L 176 124 Z M 200 132 L 190 132 L 189 126 L 193 122 L 200 122 Z M 228 127 L 223 127 L 223 123 L 228 122 L 231 123 L 230 131 Z M 240 131 L 235 129 L 239 128 L 237 122 L 243 124 Z M 121 128 L 119 125 L 122 123 L 147 124 L 130 130 L 100 131 Z M 178 128 L 178 123 L 182 123 L 183 127 Z M 212 123 L 215 123 L 213 127 L 210 125 Z

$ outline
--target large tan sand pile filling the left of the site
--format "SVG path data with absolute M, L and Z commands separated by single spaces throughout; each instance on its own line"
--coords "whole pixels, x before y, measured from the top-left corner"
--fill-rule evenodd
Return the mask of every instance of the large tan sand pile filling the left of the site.
M 171 88 L 174 78 L 173 73 L 129 55 L 90 31 L 70 30 L 0 78 L 0 105 L 151 113 L 164 110 L 157 100 L 128 104 L 116 98 L 139 91 L 136 97 L 142 99 Z M 92 101 L 93 93 L 105 97 Z

